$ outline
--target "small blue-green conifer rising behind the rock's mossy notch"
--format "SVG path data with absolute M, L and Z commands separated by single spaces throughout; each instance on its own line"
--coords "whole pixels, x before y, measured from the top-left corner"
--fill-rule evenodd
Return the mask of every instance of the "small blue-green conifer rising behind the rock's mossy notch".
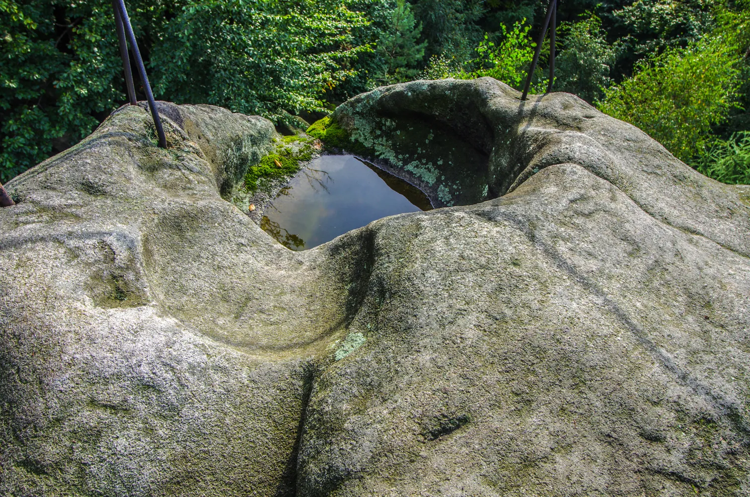
M 396 0 L 386 29 L 377 42 L 377 54 L 385 62 L 382 71 L 372 78 L 373 86 L 399 83 L 416 76 L 414 65 L 425 57 L 427 41 L 419 43 L 422 24 L 416 24 L 410 5 L 405 0 Z

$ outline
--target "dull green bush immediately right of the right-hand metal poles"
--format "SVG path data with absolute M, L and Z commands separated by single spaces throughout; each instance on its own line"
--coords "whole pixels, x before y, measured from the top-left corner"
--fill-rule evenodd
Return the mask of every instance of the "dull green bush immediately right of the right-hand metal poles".
M 612 83 L 617 45 L 607 43 L 601 19 L 587 12 L 585 20 L 562 23 L 559 32 L 563 46 L 556 57 L 555 91 L 574 93 L 589 102 L 602 98 Z

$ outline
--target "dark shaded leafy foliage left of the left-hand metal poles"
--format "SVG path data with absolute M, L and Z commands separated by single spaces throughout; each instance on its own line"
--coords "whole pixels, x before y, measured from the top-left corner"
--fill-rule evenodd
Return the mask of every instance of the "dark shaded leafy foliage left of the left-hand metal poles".
M 61 4 L 0 0 L 1 181 L 85 137 L 124 98 L 113 86 L 114 23 L 96 5 L 71 4 L 73 19 L 55 17 Z

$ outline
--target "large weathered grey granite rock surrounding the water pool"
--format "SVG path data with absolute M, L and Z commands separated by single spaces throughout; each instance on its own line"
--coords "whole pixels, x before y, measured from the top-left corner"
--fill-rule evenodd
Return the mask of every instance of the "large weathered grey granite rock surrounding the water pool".
M 216 107 L 162 104 L 168 150 L 125 107 L 9 182 L 0 494 L 750 495 L 748 188 L 519 97 L 344 104 L 472 205 L 306 252 L 221 197 L 274 130 Z

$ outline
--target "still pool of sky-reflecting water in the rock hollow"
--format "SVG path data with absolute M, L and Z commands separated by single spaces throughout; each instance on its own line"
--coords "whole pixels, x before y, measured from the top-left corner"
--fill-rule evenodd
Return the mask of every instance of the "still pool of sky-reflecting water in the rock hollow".
M 387 215 L 432 209 L 422 191 L 353 155 L 323 155 L 266 206 L 260 227 L 306 250 Z

